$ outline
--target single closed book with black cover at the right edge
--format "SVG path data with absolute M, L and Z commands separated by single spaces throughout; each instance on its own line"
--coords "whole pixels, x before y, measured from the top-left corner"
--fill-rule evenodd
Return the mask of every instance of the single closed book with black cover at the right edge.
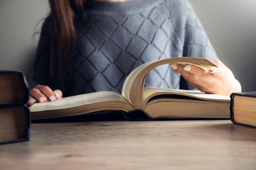
M 256 128 L 256 91 L 232 93 L 230 98 L 231 121 Z

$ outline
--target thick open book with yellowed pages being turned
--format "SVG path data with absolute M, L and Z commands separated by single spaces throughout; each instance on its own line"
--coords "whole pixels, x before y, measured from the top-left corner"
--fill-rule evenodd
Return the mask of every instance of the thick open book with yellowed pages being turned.
M 123 110 L 132 119 L 141 110 L 149 119 L 158 118 L 230 118 L 230 97 L 200 91 L 144 87 L 147 74 L 163 64 L 193 64 L 205 71 L 216 65 L 205 58 L 174 57 L 151 61 L 137 67 L 126 78 L 122 93 L 101 91 L 36 103 L 30 107 L 31 119 L 74 116 L 104 111 Z

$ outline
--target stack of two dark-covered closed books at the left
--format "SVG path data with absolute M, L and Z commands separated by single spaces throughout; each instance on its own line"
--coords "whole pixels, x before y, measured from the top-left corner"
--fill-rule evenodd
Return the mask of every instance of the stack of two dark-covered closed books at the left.
M 28 141 L 29 88 L 21 71 L 0 71 L 0 144 Z

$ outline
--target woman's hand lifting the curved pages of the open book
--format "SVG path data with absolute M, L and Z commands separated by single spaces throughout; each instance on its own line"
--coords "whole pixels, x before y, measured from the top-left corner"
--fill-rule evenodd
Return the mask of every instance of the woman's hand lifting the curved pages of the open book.
M 241 84 L 227 66 L 218 59 L 211 62 L 218 66 L 217 72 L 206 72 L 191 64 L 185 66 L 171 64 L 171 68 L 180 73 L 195 88 L 205 93 L 230 96 L 231 93 L 242 91 Z

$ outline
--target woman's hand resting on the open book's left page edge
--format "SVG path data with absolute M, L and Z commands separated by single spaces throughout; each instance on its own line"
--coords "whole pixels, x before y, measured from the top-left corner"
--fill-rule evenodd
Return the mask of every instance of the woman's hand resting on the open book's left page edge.
M 47 101 L 54 101 L 60 98 L 62 98 L 62 91 L 52 91 L 49 86 L 36 85 L 29 91 L 29 101 L 27 102 L 27 104 L 31 106 L 36 102 L 44 103 Z

